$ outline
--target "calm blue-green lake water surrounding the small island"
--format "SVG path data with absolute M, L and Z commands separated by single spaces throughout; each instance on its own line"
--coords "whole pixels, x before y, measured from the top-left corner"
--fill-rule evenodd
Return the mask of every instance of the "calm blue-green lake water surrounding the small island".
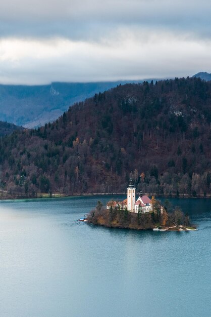
M 211 315 L 211 200 L 170 200 L 198 231 L 77 221 L 110 198 L 0 202 L 1 317 Z

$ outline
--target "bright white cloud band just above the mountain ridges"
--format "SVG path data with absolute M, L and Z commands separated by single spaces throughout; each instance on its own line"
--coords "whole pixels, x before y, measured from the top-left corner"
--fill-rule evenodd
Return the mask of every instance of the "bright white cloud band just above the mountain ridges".
M 44 84 L 192 75 L 211 68 L 211 41 L 122 28 L 100 42 L 67 38 L 0 41 L 0 82 Z

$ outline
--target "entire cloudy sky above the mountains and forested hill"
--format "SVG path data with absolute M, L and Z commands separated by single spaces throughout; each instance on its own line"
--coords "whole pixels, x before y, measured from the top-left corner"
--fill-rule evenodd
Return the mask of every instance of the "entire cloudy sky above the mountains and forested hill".
M 210 16 L 210 0 L 2 1 L 0 83 L 211 72 Z

